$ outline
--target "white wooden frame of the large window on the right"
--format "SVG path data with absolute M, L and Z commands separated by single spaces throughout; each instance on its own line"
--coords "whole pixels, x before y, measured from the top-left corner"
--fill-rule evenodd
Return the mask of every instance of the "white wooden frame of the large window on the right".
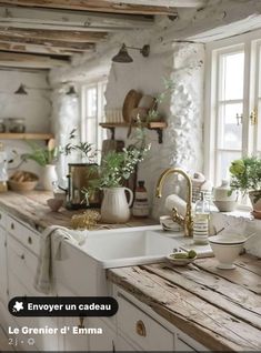
M 218 148 L 218 59 L 222 53 L 244 48 L 244 89 L 242 121 L 242 155 L 257 153 L 258 124 L 250 122 L 251 111 L 258 111 L 258 95 L 261 91 L 261 30 L 207 43 L 205 46 L 205 107 L 204 107 L 204 173 L 214 185 L 220 180 L 215 175 Z M 261 94 L 260 94 L 261 101 Z M 261 111 L 258 112 L 261 117 Z M 260 128 L 259 128 L 260 129 Z M 225 149 L 224 149 L 225 150 Z

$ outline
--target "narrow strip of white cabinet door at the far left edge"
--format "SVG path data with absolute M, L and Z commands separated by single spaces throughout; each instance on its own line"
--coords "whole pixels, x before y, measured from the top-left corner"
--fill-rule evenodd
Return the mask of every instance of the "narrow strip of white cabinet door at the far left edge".
M 0 226 L 0 300 L 8 302 L 7 232 Z

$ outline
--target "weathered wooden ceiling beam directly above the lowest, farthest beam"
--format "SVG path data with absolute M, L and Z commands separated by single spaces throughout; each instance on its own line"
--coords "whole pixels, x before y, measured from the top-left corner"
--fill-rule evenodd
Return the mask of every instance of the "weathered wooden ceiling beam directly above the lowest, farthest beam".
M 48 48 L 58 48 L 58 49 L 68 49 L 73 51 L 89 51 L 94 50 L 94 43 L 78 43 L 78 42 L 68 42 L 61 40 L 52 40 L 52 39 L 34 39 L 34 38 L 17 38 L 12 36 L 1 36 L 0 34 L 0 42 L 7 43 L 16 43 L 16 44 L 33 44 L 33 46 L 41 46 Z

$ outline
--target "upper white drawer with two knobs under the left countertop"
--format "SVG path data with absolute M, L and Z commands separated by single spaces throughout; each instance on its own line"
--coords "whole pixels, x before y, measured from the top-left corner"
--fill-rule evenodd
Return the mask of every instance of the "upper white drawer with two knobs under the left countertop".
M 39 254 L 40 249 L 40 234 L 33 232 L 26 225 L 19 223 L 11 216 L 7 216 L 7 230 L 24 246 Z

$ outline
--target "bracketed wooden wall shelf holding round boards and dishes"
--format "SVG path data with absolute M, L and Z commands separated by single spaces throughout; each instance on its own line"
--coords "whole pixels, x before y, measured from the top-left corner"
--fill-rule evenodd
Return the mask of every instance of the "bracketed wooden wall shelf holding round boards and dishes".
M 130 123 L 129 122 L 101 122 L 100 127 L 103 129 L 110 129 L 111 130 L 111 138 L 114 140 L 114 134 L 116 134 L 116 128 L 129 128 Z M 135 128 L 138 124 L 132 123 L 131 127 Z M 164 121 L 151 121 L 148 123 L 143 124 L 144 128 L 149 130 L 155 130 L 158 133 L 158 140 L 159 143 L 162 143 L 162 131 L 168 127 L 167 122 Z

